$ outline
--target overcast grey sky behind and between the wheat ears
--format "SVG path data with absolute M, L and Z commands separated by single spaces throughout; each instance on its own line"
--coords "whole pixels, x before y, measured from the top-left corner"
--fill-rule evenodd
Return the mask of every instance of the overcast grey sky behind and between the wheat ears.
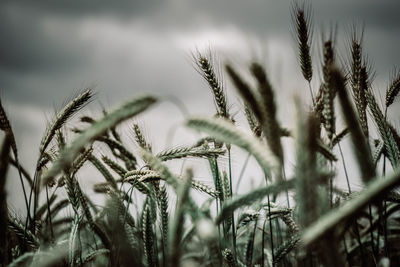
M 400 64 L 400 1 L 309 2 L 314 13 L 314 53 L 319 53 L 319 32 L 337 25 L 337 45 L 346 47 L 352 26 L 364 25 L 365 52 L 376 70 L 376 90 L 385 90 L 391 70 Z M 196 49 L 211 49 L 220 62 L 229 60 L 239 67 L 252 59 L 261 61 L 282 103 L 290 103 L 293 92 L 308 96 L 290 31 L 292 1 L 116 3 L 1 1 L 0 94 L 28 168 L 33 168 L 38 143 L 54 110 L 85 87 L 94 86 L 97 92 L 89 110 L 99 110 L 99 103 L 113 107 L 149 93 L 177 97 L 191 114 L 212 114 L 211 94 L 191 59 Z M 340 51 L 342 59 L 346 52 Z M 319 64 L 318 57 L 314 64 Z M 235 94 L 229 100 L 231 111 L 239 112 Z M 285 112 L 288 109 L 281 109 L 279 115 L 290 123 L 292 114 Z M 161 149 L 165 137 L 159 140 L 155 133 L 165 133 L 180 121 L 182 114 L 166 103 L 152 111 L 145 126 Z

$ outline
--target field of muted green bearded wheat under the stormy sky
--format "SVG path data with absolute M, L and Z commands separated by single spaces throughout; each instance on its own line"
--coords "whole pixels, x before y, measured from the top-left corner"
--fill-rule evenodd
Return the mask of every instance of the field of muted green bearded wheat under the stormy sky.
M 85 89 L 54 116 L 38 148 L 18 148 L 0 102 L 2 266 L 400 265 L 400 137 L 388 119 L 400 73 L 388 81 L 381 106 L 362 29 L 353 29 L 347 51 L 337 49 L 334 30 L 325 34 L 318 58 L 311 51 L 311 12 L 306 5 L 292 10 L 304 78 L 299 87 L 311 103 L 299 97 L 284 103 L 296 110 L 293 125 L 278 119 L 285 107 L 263 63 L 220 65 L 212 52 L 193 53 L 215 115 L 186 119 L 186 129 L 200 136 L 190 145 L 152 148 L 135 118 L 163 99 L 135 96 L 93 117 L 83 111 L 94 95 Z M 239 96 L 246 129 L 230 111 L 227 90 Z M 126 143 L 122 123 L 134 146 Z M 348 145 L 351 155 L 342 150 Z M 33 173 L 19 160 L 20 149 L 38 153 Z M 249 159 L 260 170 L 259 186 L 245 193 L 234 185 L 251 177 L 233 174 L 233 149 L 248 155 L 243 170 Z M 354 166 L 345 164 L 349 157 Z M 196 179 L 190 167 L 180 173 L 170 167 L 188 158 L 205 162 L 210 183 Z M 338 168 L 343 186 L 336 181 Z M 7 204 L 9 169 L 17 170 L 26 216 Z M 85 175 L 99 178 L 96 197 L 82 186 Z M 361 190 L 352 188 L 354 180 L 362 182 Z M 104 201 L 97 203 L 99 195 Z

